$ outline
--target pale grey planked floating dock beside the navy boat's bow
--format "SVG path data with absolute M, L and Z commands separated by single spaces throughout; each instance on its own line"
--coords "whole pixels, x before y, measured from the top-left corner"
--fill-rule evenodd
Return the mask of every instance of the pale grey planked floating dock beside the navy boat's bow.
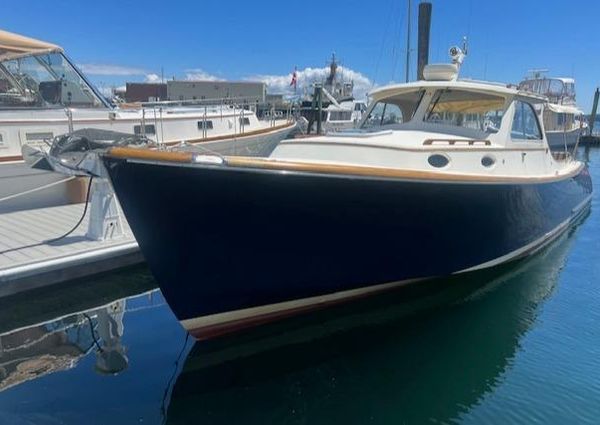
M 77 223 L 83 209 L 71 204 L 0 215 L 0 296 L 143 261 L 126 220 L 124 236 L 88 239 L 89 210 L 73 233 L 52 241 Z

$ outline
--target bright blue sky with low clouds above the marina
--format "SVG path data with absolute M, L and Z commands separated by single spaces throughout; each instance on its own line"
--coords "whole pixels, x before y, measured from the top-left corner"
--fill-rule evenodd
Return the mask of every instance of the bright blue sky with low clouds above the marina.
M 2 3 L 6 3 L 2 7 Z M 430 63 L 467 36 L 461 77 L 519 82 L 530 69 L 575 77 L 580 106 L 600 85 L 597 0 L 432 0 Z M 362 95 L 405 79 L 408 0 L 0 0 L 0 28 L 62 46 L 104 89 L 165 78 L 262 80 L 289 91 L 335 52 Z M 413 0 L 410 78 L 416 74 Z

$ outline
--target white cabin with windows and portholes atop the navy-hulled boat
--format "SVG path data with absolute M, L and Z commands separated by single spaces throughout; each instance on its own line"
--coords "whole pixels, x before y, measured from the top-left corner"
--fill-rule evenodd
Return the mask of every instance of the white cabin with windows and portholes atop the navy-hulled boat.
M 545 97 L 430 75 L 438 80 L 372 92 L 355 131 L 286 140 L 271 158 L 493 176 L 555 176 L 576 166 L 548 148 Z

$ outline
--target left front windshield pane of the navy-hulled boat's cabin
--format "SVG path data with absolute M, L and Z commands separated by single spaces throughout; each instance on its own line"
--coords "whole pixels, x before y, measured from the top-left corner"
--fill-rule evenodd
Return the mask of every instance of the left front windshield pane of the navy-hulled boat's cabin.
M 371 107 L 361 128 L 385 127 L 410 121 L 424 93 L 424 90 L 417 90 L 380 100 Z

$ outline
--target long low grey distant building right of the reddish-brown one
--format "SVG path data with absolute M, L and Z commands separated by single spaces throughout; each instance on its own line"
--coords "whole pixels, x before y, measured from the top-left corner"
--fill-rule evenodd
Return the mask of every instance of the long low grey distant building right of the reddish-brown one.
M 251 81 L 167 81 L 169 100 L 245 99 L 264 103 L 267 86 Z

